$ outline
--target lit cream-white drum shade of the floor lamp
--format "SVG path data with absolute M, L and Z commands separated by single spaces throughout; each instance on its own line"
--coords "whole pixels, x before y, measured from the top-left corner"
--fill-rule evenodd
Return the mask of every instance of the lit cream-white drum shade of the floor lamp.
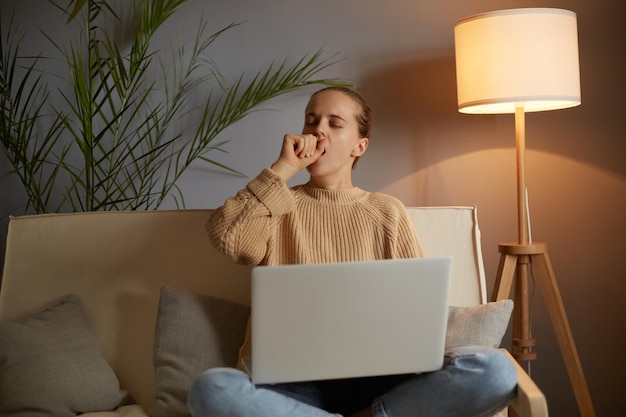
M 454 27 L 461 113 L 515 113 L 580 104 L 576 14 L 530 8 L 489 12 Z

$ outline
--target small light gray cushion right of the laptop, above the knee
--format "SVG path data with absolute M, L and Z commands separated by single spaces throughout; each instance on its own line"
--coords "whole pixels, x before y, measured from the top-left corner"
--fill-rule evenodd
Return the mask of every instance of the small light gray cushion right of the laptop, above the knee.
M 446 348 L 469 345 L 499 347 L 512 311 L 512 300 L 474 307 L 450 307 Z

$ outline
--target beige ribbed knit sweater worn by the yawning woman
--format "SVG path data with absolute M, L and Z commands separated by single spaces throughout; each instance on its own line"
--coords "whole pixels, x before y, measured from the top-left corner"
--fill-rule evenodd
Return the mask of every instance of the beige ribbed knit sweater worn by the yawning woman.
M 216 209 L 206 228 L 219 251 L 245 265 L 423 256 L 406 209 L 395 197 L 359 188 L 289 188 L 269 168 Z M 248 328 L 240 368 L 250 348 Z

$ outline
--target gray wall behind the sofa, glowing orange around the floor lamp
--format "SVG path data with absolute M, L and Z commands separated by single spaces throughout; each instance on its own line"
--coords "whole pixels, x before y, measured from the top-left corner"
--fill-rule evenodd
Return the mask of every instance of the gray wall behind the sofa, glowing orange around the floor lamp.
M 44 1 L 4 0 L 3 21 L 15 5 L 23 25 L 65 30 Z M 329 56 L 338 53 L 344 59 L 326 75 L 357 84 L 375 114 L 356 184 L 396 195 L 409 206 L 477 205 L 492 288 L 497 245 L 517 238 L 514 121 L 456 111 L 452 30 L 456 20 L 473 13 L 543 6 L 530 0 L 194 0 L 161 35 L 163 45 L 183 30 L 190 37 L 202 13 L 214 29 L 245 21 L 214 50 L 226 74 L 255 72 L 272 60 L 295 59 L 320 47 Z M 622 0 L 554 0 L 548 6 L 578 14 L 583 103 L 527 116 L 532 233 L 549 243 L 597 415 L 616 416 L 626 375 L 626 273 L 619 266 L 626 249 L 626 7 Z M 277 156 L 282 135 L 301 129 L 312 90 L 275 99 L 264 106 L 272 111 L 228 129 L 222 137 L 232 140 L 228 153 L 214 156 L 248 177 L 256 175 Z M 0 173 L 6 169 L 0 159 Z M 181 187 L 189 208 L 215 207 L 247 181 L 194 168 Z M 21 198 L 14 181 L 1 180 L 2 216 L 20 214 Z M 5 230 L 6 218 L 3 236 Z M 539 355 L 532 377 L 546 393 L 551 415 L 576 416 L 538 288 L 532 316 Z

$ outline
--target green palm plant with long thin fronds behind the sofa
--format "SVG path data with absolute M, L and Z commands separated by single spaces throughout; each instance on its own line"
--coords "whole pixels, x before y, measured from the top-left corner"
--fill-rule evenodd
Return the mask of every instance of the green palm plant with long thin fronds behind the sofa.
M 157 209 L 168 198 L 184 207 L 177 181 L 189 166 L 236 172 L 211 158 L 224 129 L 294 89 L 345 84 L 317 78 L 335 63 L 321 51 L 226 80 L 209 49 L 237 23 L 211 31 L 202 20 L 193 42 L 173 47 L 166 64 L 152 41 L 186 0 L 111 3 L 53 2 L 76 26 L 69 43 L 45 35 L 62 56 L 69 88 L 49 88 L 48 57 L 22 55 L 16 19 L 0 28 L 1 147 L 28 196 L 25 211 Z M 119 26 L 125 30 L 111 29 Z M 198 91 L 207 92 L 201 105 L 194 104 Z

